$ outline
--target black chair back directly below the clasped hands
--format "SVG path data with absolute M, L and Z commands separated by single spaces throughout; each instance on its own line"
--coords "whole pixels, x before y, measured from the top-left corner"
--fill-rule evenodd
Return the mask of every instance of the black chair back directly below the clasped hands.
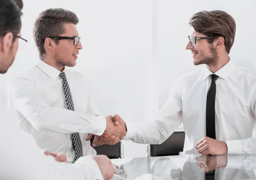
M 93 139 L 90 140 L 90 144 L 93 147 Z M 123 146 L 122 142 L 118 142 L 115 145 L 101 145 L 101 146 L 96 146 L 93 147 L 98 155 L 106 155 L 108 156 L 109 159 L 118 159 L 118 158 L 123 158 Z

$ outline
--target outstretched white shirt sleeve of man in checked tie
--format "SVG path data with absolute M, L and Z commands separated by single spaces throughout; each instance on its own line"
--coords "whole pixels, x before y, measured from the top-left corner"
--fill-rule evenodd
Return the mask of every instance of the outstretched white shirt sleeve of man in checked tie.
M 19 75 L 12 79 L 12 95 L 16 112 L 21 113 L 38 131 L 96 135 L 105 131 L 106 120 L 103 116 L 49 107 L 37 93 L 35 81 L 28 77 Z

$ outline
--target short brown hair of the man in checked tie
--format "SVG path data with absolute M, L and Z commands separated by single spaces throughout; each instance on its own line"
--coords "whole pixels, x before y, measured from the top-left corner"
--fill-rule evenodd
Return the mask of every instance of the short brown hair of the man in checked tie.
M 46 53 L 45 38 L 63 34 L 65 32 L 64 23 L 76 25 L 79 23 L 79 19 L 75 13 L 61 8 L 47 9 L 40 13 L 33 28 L 33 37 L 40 56 Z M 58 40 L 55 42 L 58 44 Z

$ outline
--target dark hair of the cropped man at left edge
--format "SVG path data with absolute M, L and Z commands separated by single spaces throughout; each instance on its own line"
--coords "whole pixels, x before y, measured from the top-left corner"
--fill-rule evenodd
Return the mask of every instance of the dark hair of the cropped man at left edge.
M 19 33 L 21 9 L 13 0 L 0 0 L 0 37 L 8 32 Z M 15 38 L 14 38 L 15 39 Z

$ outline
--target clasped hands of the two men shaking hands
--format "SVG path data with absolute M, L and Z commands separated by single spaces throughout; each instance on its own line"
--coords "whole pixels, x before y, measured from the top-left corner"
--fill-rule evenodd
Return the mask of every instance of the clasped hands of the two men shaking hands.
M 107 116 L 106 129 L 101 136 L 95 135 L 93 139 L 93 147 L 100 145 L 115 145 L 122 140 L 126 135 L 127 128 L 124 120 L 118 116 Z M 89 141 L 93 137 L 93 134 L 88 134 L 86 140 Z

